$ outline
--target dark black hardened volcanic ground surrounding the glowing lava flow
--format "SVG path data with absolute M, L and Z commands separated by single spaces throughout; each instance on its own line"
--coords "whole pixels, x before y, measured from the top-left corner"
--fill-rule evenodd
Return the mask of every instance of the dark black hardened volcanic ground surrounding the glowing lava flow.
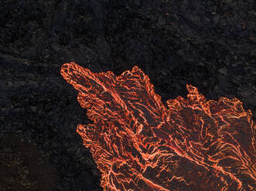
M 102 190 L 65 62 L 120 75 L 138 65 L 162 101 L 240 99 L 256 113 L 254 0 L 0 1 L 0 191 Z

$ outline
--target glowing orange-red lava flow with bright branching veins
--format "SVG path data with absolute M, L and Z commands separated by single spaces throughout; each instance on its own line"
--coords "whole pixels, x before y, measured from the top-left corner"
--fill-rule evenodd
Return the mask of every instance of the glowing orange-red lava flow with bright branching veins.
M 238 99 L 207 101 L 186 85 L 165 106 L 138 66 L 116 76 L 71 62 L 61 75 L 93 121 L 78 125 L 104 190 L 255 190 L 251 111 Z

